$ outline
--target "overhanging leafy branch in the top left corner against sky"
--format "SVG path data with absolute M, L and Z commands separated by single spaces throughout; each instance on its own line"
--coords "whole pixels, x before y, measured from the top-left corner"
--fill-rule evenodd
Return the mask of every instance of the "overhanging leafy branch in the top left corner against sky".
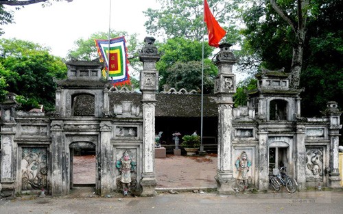
M 53 0 L 53 1 L 63 1 L 63 0 Z M 67 2 L 71 2 L 73 0 L 64 0 Z M 13 23 L 13 11 L 5 8 L 4 5 L 14 6 L 15 10 L 20 10 L 21 8 L 24 8 L 25 5 L 32 5 L 34 3 L 42 3 L 42 6 L 49 6 L 51 5 L 51 1 L 49 0 L 0 0 L 0 25 L 8 25 Z M 0 28 L 0 36 L 4 34 L 2 31 L 2 28 Z

